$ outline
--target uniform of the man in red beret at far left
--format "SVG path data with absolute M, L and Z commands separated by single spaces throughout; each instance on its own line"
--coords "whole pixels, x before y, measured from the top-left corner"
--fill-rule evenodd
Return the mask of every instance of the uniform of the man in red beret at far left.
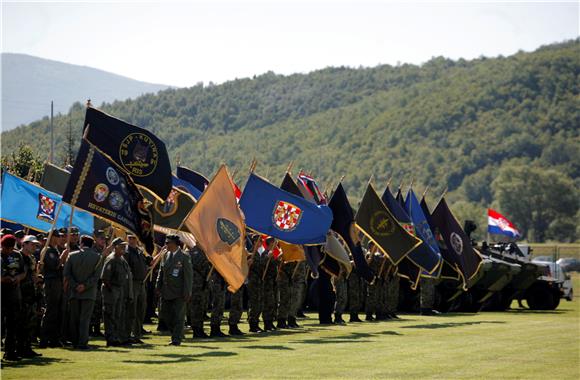
M 2 317 L 6 331 L 4 340 L 4 358 L 16 360 L 24 350 L 26 330 L 20 325 L 22 293 L 19 283 L 10 279 L 25 272 L 25 263 L 20 252 L 2 253 Z

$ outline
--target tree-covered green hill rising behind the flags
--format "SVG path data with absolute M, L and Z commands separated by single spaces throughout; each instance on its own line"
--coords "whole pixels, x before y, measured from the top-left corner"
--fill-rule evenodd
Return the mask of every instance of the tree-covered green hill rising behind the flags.
M 211 175 L 220 162 L 244 181 L 252 157 L 273 182 L 294 168 L 323 187 L 342 175 L 356 202 L 374 173 L 434 200 L 447 187 L 460 218 L 485 209 L 511 217 L 531 240 L 574 240 L 579 220 L 580 40 L 510 57 L 421 65 L 266 73 L 222 85 L 170 89 L 103 110 L 152 130 L 174 165 Z M 56 119 L 59 157 L 68 122 L 80 138 L 83 106 Z M 46 156 L 48 121 L 2 134 L 3 154 L 28 142 Z M 356 203 L 355 203 L 356 205 Z M 432 204 L 434 206 L 434 204 Z M 483 224 L 483 225 L 482 225 Z

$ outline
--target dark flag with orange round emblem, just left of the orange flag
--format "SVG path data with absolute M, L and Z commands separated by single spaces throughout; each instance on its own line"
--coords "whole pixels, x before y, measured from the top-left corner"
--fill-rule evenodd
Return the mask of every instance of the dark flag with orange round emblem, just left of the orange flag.
M 179 179 L 176 177 L 173 179 L 173 189 L 165 202 L 161 202 L 150 194 L 145 194 L 145 198 L 153 204 L 151 212 L 155 225 L 180 230 L 183 229 L 183 222 L 193 209 L 195 200 L 188 192 L 179 188 Z

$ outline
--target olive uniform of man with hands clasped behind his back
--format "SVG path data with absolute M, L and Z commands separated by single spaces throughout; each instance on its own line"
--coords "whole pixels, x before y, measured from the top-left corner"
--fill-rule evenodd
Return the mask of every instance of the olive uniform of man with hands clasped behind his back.
M 92 248 L 72 252 L 64 266 L 70 294 L 71 338 L 77 347 L 84 348 L 89 342 L 89 327 L 101 271 L 101 255 Z M 84 285 L 82 292 L 77 291 L 80 284 Z

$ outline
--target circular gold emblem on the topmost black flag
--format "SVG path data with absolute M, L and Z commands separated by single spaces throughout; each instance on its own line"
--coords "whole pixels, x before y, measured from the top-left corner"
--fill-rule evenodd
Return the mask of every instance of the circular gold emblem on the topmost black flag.
M 147 177 L 157 167 L 159 151 L 149 136 L 143 133 L 131 133 L 121 141 L 119 158 L 129 174 Z

